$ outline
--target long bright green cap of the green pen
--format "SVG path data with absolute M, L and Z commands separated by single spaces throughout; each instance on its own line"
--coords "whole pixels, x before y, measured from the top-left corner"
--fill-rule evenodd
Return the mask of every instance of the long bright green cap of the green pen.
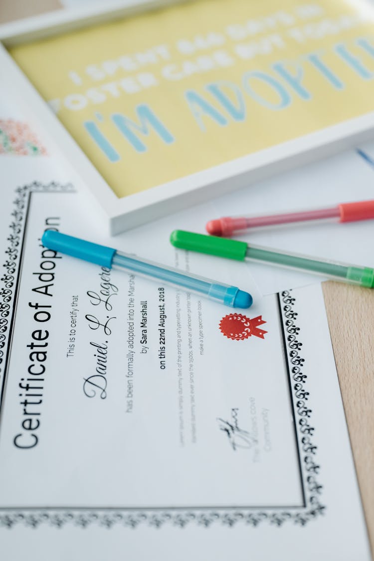
M 247 243 L 237 240 L 229 240 L 228 238 L 220 238 L 218 236 L 206 236 L 205 234 L 196 234 L 194 232 L 186 232 L 184 230 L 174 230 L 170 234 L 170 242 L 175 247 L 198 251 L 218 257 L 228 257 L 228 259 L 236 259 L 244 261 L 247 252 Z

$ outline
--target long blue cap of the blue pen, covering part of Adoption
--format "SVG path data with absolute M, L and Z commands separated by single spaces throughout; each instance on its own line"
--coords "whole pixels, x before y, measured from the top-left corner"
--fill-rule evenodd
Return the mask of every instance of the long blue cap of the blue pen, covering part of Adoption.
M 112 247 L 87 242 L 53 230 L 46 230 L 44 232 L 41 237 L 41 243 L 48 249 L 61 251 L 66 255 L 78 257 L 78 259 L 84 259 L 108 269 L 112 268 L 113 256 L 116 253 L 116 250 L 112 249 Z

